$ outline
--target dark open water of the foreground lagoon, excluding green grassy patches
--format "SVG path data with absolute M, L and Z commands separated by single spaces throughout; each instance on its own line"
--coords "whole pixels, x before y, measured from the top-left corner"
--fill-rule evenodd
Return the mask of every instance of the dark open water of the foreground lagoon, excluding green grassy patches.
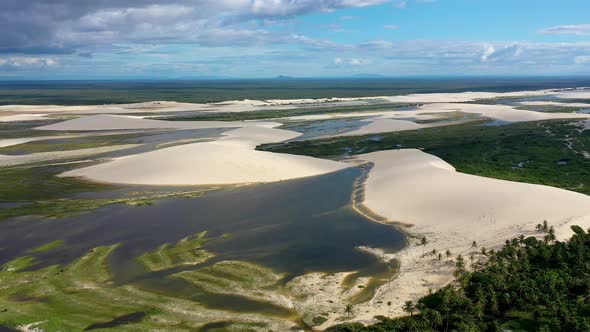
M 182 294 L 186 292 L 180 281 L 158 280 L 202 266 L 148 273 L 134 259 L 164 243 L 208 231 L 212 240 L 203 248 L 216 254 L 208 264 L 249 261 L 286 273 L 287 279 L 310 271 L 380 273 L 388 265 L 357 247 L 397 251 L 405 238 L 395 228 L 373 223 L 352 210 L 353 182 L 359 175 L 352 168 L 301 180 L 228 188 L 201 198 L 167 199 L 152 206 L 111 205 L 63 219 L 7 220 L 0 222 L 0 263 L 55 240 L 66 244 L 36 254 L 42 265 L 65 264 L 93 247 L 122 243 L 111 259 L 117 283 L 133 282 L 161 293 Z M 221 237 L 228 233 L 230 237 Z M 194 289 L 190 294 L 215 308 L 261 311 L 264 307 L 262 311 L 273 315 L 287 314 L 239 296 Z

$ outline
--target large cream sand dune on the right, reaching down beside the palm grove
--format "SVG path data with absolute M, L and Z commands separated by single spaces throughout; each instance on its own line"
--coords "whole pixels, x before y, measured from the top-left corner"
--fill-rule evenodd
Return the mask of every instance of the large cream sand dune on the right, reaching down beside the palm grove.
M 473 241 L 488 249 L 498 247 L 519 234 L 535 235 L 535 225 L 543 220 L 563 236 L 571 233 L 571 224 L 590 225 L 590 196 L 583 194 L 458 173 L 419 150 L 381 151 L 358 159 L 374 163 L 364 205 L 391 221 L 414 225 L 408 230 L 429 242 L 397 255 L 399 277 L 379 289 L 366 308 L 369 313 L 360 319 L 386 313 L 386 307 L 375 309 L 377 301 L 392 301 L 394 315 L 403 315 L 404 301 L 450 282 L 452 264 L 424 255 L 432 249 L 469 257 Z

